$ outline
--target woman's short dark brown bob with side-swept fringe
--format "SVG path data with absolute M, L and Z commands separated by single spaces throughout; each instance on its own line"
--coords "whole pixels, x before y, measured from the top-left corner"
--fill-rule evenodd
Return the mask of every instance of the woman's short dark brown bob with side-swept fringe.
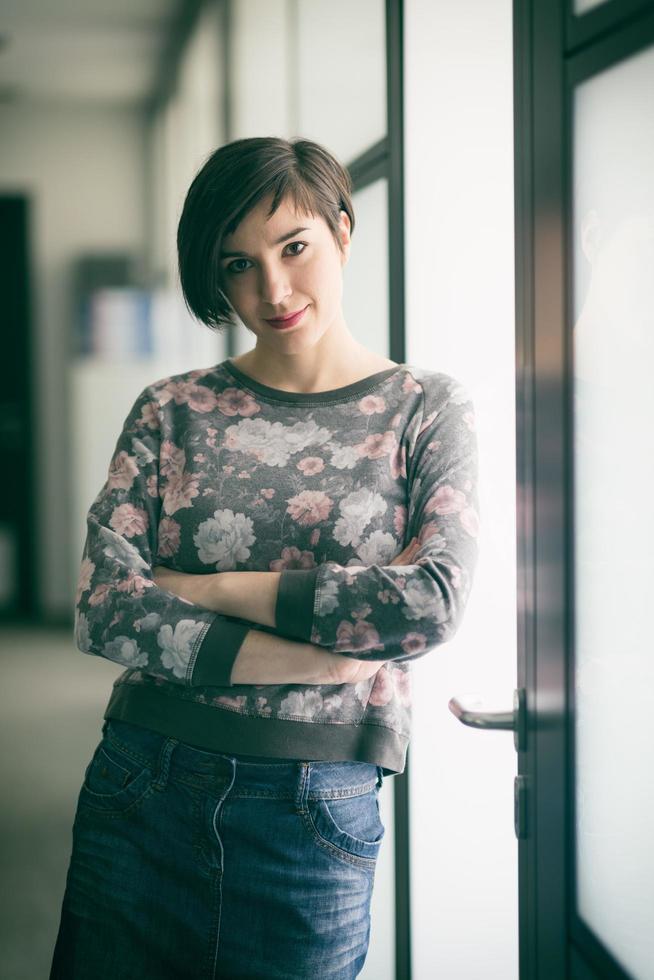
M 269 194 L 273 200 L 268 217 L 289 197 L 298 213 L 325 219 L 341 251 L 341 211 L 354 230 L 350 175 L 320 144 L 256 136 L 219 147 L 195 175 L 177 228 L 184 301 L 212 330 L 234 324 L 233 308 L 222 291 L 223 239 Z

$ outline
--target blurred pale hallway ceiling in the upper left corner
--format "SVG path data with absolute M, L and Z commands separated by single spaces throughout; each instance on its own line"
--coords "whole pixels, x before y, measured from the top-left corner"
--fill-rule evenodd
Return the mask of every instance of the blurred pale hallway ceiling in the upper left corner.
M 0 102 L 142 105 L 180 0 L 2 0 Z

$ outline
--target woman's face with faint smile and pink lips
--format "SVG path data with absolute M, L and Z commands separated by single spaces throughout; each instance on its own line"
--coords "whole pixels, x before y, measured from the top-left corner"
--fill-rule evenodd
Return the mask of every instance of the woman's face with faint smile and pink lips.
M 342 321 L 350 221 L 341 211 L 341 252 L 320 215 L 298 214 L 292 200 L 285 199 L 267 218 L 271 203 L 271 196 L 261 200 L 223 239 L 222 288 L 256 335 L 257 346 L 292 354 L 312 347 Z M 303 309 L 300 319 L 283 329 L 269 322 Z

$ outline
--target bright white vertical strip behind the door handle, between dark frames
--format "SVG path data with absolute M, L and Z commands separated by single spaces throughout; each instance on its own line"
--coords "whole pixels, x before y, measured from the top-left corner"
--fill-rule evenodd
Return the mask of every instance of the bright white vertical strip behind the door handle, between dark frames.
M 414 980 L 518 976 L 516 754 L 453 695 L 516 686 L 510 0 L 405 4 L 407 361 L 475 401 L 480 559 L 455 639 L 415 664 L 409 750 Z

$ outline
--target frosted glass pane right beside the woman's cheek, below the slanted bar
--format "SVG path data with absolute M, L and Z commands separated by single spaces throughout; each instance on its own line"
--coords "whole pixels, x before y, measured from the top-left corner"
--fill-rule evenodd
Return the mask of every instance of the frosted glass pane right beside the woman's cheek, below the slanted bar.
M 355 225 L 343 274 L 343 312 L 360 343 L 389 357 L 386 179 L 358 191 L 352 203 Z

